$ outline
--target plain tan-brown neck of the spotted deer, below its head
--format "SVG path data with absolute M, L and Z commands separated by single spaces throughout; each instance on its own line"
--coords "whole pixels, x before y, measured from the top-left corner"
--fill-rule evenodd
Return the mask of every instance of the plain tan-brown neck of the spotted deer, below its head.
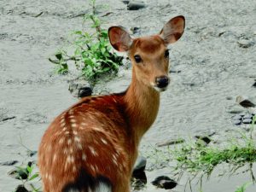
M 126 91 L 124 100 L 131 134 L 138 144 L 144 133 L 154 123 L 160 106 L 160 93 L 140 82 L 133 69 L 131 84 Z

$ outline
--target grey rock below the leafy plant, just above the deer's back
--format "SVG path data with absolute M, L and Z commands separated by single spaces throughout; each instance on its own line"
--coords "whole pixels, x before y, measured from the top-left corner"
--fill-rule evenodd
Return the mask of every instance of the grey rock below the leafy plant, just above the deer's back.
M 91 96 L 92 94 L 92 87 L 83 79 L 70 82 L 68 90 L 74 97 Z

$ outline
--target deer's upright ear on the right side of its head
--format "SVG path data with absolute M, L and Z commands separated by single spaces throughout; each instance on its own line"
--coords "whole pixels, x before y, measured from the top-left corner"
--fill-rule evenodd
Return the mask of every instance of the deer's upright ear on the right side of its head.
M 185 28 L 185 18 L 180 15 L 169 20 L 160 31 L 160 37 L 166 44 L 173 44 L 182 37 Z

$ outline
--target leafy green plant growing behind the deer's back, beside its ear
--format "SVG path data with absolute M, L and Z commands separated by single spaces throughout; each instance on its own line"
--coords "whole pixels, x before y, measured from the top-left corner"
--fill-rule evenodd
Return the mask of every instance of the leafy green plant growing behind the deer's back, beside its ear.
M 96 0 L 91 0 L 90 5 L 92 13 L 84 16 L 84 23 L 89 21 L 95 32 L 73 32 L 73 54 L 68 55 L 67 49 L 62 49 L 55 54 L 56 60 L 49 59 L 56 65 L 57 73 L 67 73 L 72 63 L 85 79 L 95 80 L 102 73 L 116 73 L 122 65 L 123 57 L 111 51 L 108 31 L 102 28 L 102 21 L 96 15 Z

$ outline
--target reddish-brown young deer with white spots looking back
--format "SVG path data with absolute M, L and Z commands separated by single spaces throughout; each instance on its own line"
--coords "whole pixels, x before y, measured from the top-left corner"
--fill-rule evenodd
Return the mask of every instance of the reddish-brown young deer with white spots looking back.
M 131 59 L 131 84 L 123 93 L 85 97 L 49 125 L 38 152 L 44 192 L 130 191 L 138 145 L 170 82 L 167 45 L 184 26 L 177 16 L 160 34 L 135 39 L 122 27 L 109 28 L 113 48 Z

